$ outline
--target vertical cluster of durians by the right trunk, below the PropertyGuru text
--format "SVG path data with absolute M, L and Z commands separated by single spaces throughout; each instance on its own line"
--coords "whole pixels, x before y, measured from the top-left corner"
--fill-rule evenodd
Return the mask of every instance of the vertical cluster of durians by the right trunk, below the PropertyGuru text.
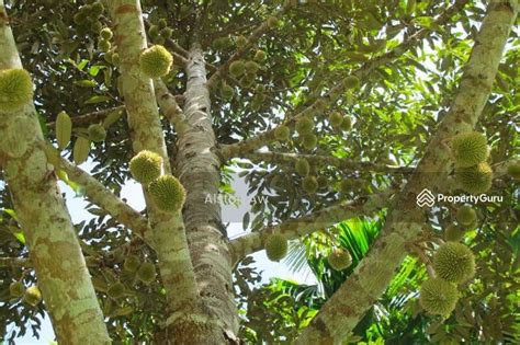
M 456 212 L 459 227 L 448 227 L 444 232 L 446 242 L 434 253 L 432 267 L 436 277 L 423 281 L 419 302 L 430 314 L 448 317 L 459 300 L 457 284 L 467 281 L 475 274 L 475 256 L 464 244 L 464 229 L 476 227 L 477 215 L 470 206 L 462 206 Z

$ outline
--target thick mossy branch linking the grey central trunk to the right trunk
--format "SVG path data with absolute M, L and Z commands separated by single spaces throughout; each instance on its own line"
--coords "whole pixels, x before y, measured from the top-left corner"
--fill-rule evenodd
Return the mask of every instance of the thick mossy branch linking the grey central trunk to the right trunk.
M 263 249 L 263 241 L 273 233 L 282 233 L 287 240 L 297 239 L 305 234 L 332 227 L 334 225 L 369 215 L 386 206 L 392 195 L 391 191 L 370 195 L 355 202 L 343 202 L 335 206 L 314 211 L 309 215 L 293 218 L 280 225 L 269 226 L 260 231 L 250 232 L 229 242 L 233 251 L 234 263 L 237 264 L 244 257 Z

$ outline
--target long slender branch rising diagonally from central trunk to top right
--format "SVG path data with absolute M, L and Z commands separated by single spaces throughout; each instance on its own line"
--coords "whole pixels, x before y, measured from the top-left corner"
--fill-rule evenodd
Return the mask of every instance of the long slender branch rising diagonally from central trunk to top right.
M 453 7 L 448 9 L 442 15 L 440 15 L 437 19 L 436 23 L 438 25 L 443 25 L 445 22 L 448 22 L 448 20 L 453 14 L 457 13 L 467 2 L 468 0 L 456 1 Z M 400 43 L 393 50 L 363 64 L 363 66 L 361 66 L 358 70 L 353 71 L 351 76 L 355 76 L 360 80 L 365 80 L 369 73 L 372 72 L 375 68 L 397 59 L 407 50 L 411 49 L 416 44 L 421 42 L 421 39 L 425 38 L 427 34 L 430 32 L 431 31 L 429 28 L 419 30 L 414 35 L 409 36 L 406 41 Z M 314 114 L 317 110 L 323 108 L 324 106 L 334 104 L 339 99 L 339 96 L 343 94 L 344 91 L 347 90 L 347 81 L 349 77 L 342 79 L 336 87 L 334 87 L 329 91 L 327 95 L 319 97 L 313 104 L 310 104 L 309 106 L 307 106 L 299 113 L 287 116 L 283 125 L 294 126 L 294 124 L 296 123 L 298 118 L 305 115 Z M 278 127 L 274 127 L 272 129 L 269 129 L 264 133 L 257 135 L 256 137 L 245 139 L 236 143 L 224 145 L 218 150 L 219 156 L 226 161 L 230 158 L 241 157 L 242 154 L 247 152 L 255 151 L 259 149 L 260 147 L 264 146 L 265 143 L 275 140 L 274 133 L 276 128 Z

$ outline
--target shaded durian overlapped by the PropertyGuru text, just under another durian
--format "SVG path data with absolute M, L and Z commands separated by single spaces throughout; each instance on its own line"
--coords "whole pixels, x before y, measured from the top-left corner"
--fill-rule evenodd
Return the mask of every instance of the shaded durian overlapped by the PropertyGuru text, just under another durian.
M 482 162 L 470 168 L 459 168 L 455 179 L 467 193 L 482 194 L 491 187 L 493 170 L 488 163 Z

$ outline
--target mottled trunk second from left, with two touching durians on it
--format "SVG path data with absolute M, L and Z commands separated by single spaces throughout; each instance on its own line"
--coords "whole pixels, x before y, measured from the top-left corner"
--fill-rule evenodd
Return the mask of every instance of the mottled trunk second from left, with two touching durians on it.
M 121 57 L 123 96 L 128 114 L 134 152 L 149 150 L 163 159 L 165 174 L 171 173 L 152 81 L 140 72 L 139 56 L 147 48 L 143 13 L 138 0 L 106 1 L 114 21 Z M 180 212 L 160 211 L 144 188 L 151 233 L 146 234 L 157 252 L 166 289 L 170 321 L 200 310 L 199 294 Z

